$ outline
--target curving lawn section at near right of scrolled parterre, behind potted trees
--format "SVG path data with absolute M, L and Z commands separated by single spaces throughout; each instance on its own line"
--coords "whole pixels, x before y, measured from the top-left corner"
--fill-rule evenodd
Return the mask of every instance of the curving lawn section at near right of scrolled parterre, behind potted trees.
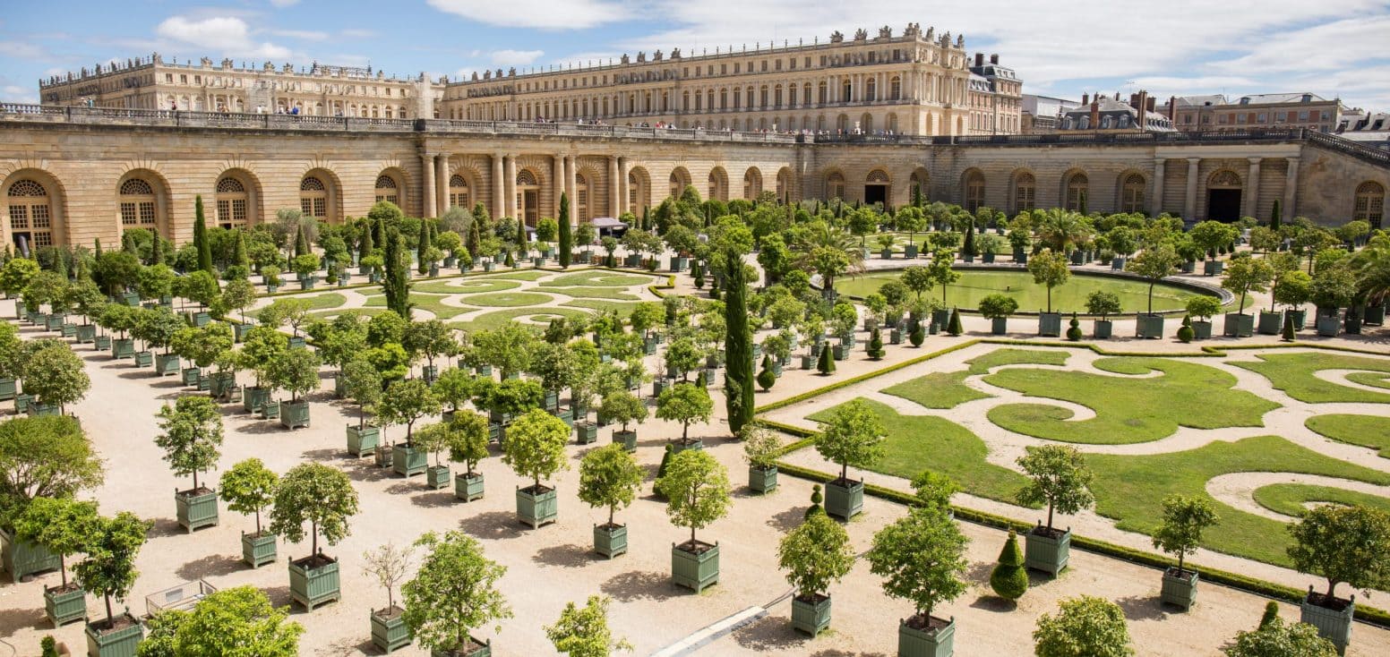
M 1095 510 L 1115 518 L 1120 529 L 1151 533 L 1161 522 L 1166 494 L 1201 496 L 1215 503 L 1220 517 L 1204 535 L 1204 547 L 1277 565 L 1291 565 L 1284 554 L 1286 525 L 1215 501 L 1207 494 L 1208 479 L 1229 472 L 1302 472 L 1390 483 L 1390 474 L 1329 458 L 1277 436 L 1215 442 L 1172 454 L 1090 454 L 1086 460 L 1095 471 Z

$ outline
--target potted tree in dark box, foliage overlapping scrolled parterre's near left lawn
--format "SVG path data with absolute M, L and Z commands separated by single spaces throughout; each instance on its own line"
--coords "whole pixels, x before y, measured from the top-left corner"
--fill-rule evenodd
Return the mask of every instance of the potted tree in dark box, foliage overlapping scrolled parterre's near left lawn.
M 849 479 L 849 467 L 869 468 L 883 457 L 887 431 L 878 415 L 863 400 L 852 400 L 834 410 L 816 436 L 816 451 L 840 464 L 840 476 L 826 483 L 826 513 L 849 519 L 863 511 L 863 481 Z

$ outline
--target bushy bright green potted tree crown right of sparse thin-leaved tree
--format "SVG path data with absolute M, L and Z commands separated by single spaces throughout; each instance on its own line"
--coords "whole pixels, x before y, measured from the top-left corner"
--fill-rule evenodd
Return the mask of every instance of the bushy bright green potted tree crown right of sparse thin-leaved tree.
M 512 618 L 512 608 L 496 589 L 506 567 L 484 557 L 482 546 L 461 531 L 442 538 L 428 532 L 416 547 L 427 554 L 414 579 L 400 588 L 410 633 L 436 654 L 471 653 L 470 631 Z

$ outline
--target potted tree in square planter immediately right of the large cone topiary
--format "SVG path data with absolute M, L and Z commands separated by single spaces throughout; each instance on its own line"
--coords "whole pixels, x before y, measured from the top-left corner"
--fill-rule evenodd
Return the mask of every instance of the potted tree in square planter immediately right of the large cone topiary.
M 1029 568 L 1056 576 L 1070 557 L 1072 531 L 1054 529 L 1052 513 L 1074 514 L 1088 508 L 1095 501 L 1088 488 L 1093 474 L 1076 447 L 1045 444 L 1026 447 L 1026 451 L 1017 464 L 1031 482 L 1019 490 L 1019 504 L 1047 504 L 1047 525 L 1038 522 L 1024 536 L 1026 563 Z

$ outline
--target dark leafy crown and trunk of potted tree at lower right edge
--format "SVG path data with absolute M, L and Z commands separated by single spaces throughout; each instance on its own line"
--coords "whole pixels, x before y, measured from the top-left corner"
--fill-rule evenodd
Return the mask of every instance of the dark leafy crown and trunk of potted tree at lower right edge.
M 1298 572 L 1327 579 L 1327 592 L 1315 604 L 1330 607 L 1337 585 L 1384 590 L 1390 586 L 1390 514 L 1369 507 L 1318 506 L 1289 525 L 1294 544 L 1289 558 Z M 1337 608 L 1337 607 L 1333 607 Z

